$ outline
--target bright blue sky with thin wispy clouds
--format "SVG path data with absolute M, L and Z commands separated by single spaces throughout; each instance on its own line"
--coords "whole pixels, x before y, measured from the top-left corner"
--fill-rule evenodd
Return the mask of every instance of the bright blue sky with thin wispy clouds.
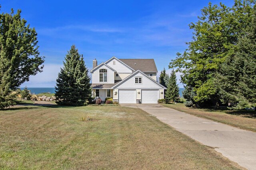
M 89 70 L 94 58 L 102 63 L 116 56 L 154 59 L 159 73 L 164 67 L 170 73 L 170 60 L 191 40 L 188 24 L 197 21 L 208 2 L 233 4 L 230 0 L 6 0 L 0 4 L 1 12 L 22 10 L 22 18 L 35 27 L 40 55 L 45 56 L 44 71 L 21 87 L 54 87 L 73 44 L 84 55 Z

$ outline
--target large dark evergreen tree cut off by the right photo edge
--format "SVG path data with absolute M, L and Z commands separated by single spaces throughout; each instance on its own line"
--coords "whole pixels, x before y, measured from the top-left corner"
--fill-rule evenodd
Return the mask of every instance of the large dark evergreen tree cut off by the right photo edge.
M 223 103 L 238 103 L 234 109 L 256 106 L 256 5 L 252 23 L 238 37 L 236 53 L 222 64 L 216 83 Z

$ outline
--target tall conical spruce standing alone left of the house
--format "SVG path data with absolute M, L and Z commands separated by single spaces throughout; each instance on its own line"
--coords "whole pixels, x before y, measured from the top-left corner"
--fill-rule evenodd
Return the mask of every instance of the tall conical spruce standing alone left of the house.
M 92 100 L 88 69 L 74 45 L 68 51 L 63 64 L 56 80 L 56 103 L 64 106 L 82 106 Z

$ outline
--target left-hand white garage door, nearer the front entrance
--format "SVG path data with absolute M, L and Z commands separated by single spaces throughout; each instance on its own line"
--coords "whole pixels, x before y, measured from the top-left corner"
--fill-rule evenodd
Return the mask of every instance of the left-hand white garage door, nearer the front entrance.
M 118 90 L 119 103 L 136 103 L 136 90 Z

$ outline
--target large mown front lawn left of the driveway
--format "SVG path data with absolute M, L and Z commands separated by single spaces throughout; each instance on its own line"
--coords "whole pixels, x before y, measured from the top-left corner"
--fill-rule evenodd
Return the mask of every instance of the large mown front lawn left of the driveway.
M 0 125 L 0 169 L 242 169 L 141 109 L 14 107 Z

